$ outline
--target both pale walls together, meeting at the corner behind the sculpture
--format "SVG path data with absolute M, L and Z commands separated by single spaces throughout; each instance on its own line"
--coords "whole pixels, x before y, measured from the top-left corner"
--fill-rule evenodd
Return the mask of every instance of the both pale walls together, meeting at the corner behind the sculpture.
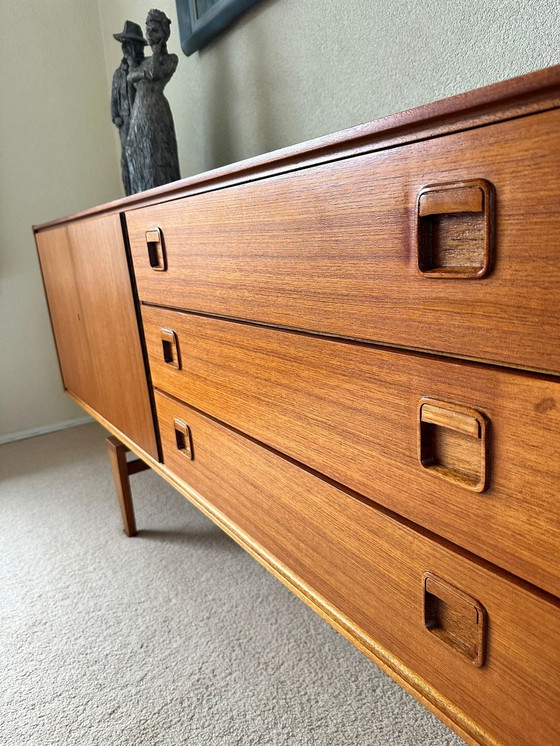
M 0 3 L 1 436 L 78 413 L 29 226 L 122 194 L 112 34 L 151 3 Z M 183 176 L 560 62 L 560 0 L 262 0 L 191 57 L 174 0 L 154 5 L 179 54 L 167 95 Z

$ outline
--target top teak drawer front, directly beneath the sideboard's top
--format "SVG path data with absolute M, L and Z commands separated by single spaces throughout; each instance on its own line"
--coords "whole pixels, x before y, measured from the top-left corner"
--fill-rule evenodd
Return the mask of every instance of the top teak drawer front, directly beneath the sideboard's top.
M 131 210 L 140 297 L 560 371 L 559 182 L 555 110 Z

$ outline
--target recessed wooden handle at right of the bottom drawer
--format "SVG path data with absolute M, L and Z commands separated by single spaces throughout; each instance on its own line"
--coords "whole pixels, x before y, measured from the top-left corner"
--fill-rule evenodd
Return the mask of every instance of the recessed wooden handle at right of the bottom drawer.
M 488 626 L 484 606 L 433 572 L 425 572 L 422 579 L 426 629 L 477 668 L 483 666 Z

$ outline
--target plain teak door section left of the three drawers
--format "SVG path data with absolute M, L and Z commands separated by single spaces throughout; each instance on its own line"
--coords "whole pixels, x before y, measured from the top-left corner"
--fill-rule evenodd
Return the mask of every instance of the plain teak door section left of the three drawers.
M 157 457 L 118 215 L 37 234 L 65 386 Z

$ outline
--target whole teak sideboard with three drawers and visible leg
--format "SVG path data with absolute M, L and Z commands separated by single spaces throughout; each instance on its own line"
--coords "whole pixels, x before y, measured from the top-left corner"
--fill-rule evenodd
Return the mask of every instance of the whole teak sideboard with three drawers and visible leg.
M 147 465 L 468 743 L 560 743 L 560 66 L 35 235 L 128 533 Z

